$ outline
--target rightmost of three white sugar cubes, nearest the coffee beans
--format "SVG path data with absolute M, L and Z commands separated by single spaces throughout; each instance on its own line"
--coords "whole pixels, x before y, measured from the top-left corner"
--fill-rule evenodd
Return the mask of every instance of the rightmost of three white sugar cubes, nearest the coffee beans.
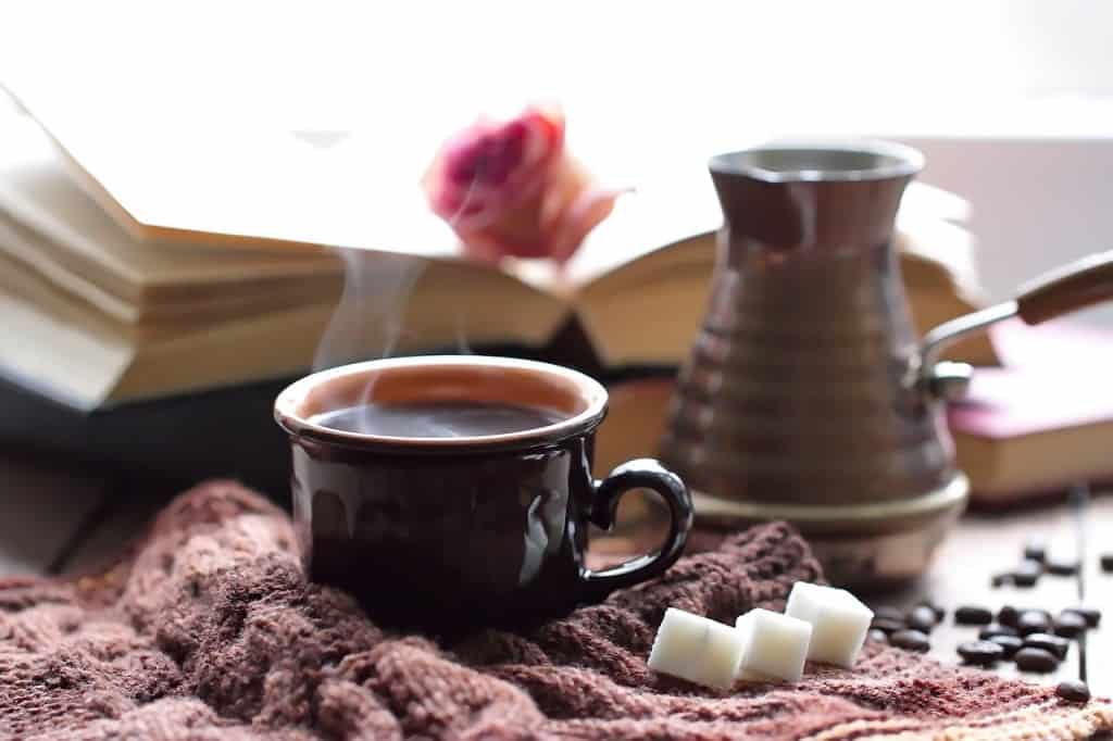
M 785 614 L 811 623 L 808 659 L 850 669 L 866 641 L 874 611 L 846 590 L 797 582 Z

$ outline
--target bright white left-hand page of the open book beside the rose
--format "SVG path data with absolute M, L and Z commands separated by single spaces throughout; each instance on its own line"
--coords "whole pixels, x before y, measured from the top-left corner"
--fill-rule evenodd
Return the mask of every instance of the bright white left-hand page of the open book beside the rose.
M 139 105 L 124 116 L 104 111 L 88 91 L 32 87 L 12 95 L 63 151 L 71 176 L 124 216 L 126 228 L 423 257 L 457 251 L 420 187 L 432 147 L 349 131 L 205 127 Z

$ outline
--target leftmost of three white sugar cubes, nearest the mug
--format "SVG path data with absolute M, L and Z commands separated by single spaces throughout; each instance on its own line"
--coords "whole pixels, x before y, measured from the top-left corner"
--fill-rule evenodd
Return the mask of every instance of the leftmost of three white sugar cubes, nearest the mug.
M 707 686 L 728 689 L 742 658 L 742 635 L 730 625 L 669 607 L 657 630 L 649 668 Z

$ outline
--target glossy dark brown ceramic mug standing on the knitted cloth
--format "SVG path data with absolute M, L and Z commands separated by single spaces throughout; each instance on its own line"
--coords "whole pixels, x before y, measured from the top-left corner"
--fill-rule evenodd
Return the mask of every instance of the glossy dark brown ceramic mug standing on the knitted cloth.
M 558 421 L 522 432 L 407 437 L 314 419 L 357 404 L 494 403 Z M 355 594 L 387 624 L 453 631 L 522 624 L 660 574 L 692 507 L 656 461 L 591 475 L 607 391 L 555 365 L 482 356 L 357 363 L 298 381 L 275 402 L 290 436 L 294 518 L 309 577 Z M 589 524 L 609 530 L 622 494 L 656 491 L 671 514 L 659 551 L 592 571 Z

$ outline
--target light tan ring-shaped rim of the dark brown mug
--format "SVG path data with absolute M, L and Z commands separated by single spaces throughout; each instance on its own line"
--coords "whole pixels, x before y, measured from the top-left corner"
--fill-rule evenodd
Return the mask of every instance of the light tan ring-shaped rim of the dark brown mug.
M 512 433 L 495 435 L 463 435 L 455 437 L 416 437 L 381 435 L 336 429 L 312 422 L 311 415 L 299 414 L 297 407 L 309 392 L 339 378 L 373 374 L 398 368 L 451 368 L 503 369 L 526 372 L 548 376 L 574 386 L 583 403 L 583 409 L 549 425 L 531 427 Z M 274 403 L 274 418 L 280 427 L 295 437 L 309 437 L 319 442 L 343 445 L 351 448 L 368 448 L 396 453 L 444 452 L 463 454 L 469 452 L 532 447 L 551 444 L 589 432 L 607 414 L 607 389 L 594 378 L 561 365 L 487 355 L 418 355 L 410 357 L 363 360 L 312 373 L 284 388 Z

